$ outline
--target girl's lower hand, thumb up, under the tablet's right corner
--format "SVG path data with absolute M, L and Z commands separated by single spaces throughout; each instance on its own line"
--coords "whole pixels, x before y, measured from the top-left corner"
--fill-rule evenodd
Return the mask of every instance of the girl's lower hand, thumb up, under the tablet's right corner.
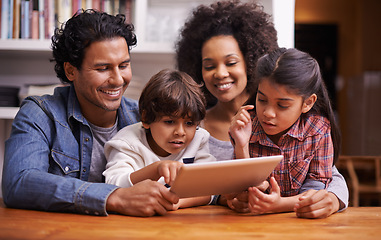
M 281 205 L 280 188 L 274 177 L 270 178 L 270 194 L 263 193 L 257 187 L 249 188 L 249 209 L 255 214 L 274 212 Z

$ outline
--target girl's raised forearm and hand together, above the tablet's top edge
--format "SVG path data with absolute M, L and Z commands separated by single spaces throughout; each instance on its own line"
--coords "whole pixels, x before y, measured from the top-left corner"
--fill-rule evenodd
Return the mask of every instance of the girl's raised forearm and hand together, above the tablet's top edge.
M 253 109 L 253 105 L 240 108 L 233 117 L 229 134 L 233 139 L 234 153 L 236 158 L 249 158 L 249 140 L 252 131 L 252 122 L 248 110 Z

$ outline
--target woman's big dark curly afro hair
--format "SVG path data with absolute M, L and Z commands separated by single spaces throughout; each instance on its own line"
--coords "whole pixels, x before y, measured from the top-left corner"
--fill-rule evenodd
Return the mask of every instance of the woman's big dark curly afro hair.
M 176 42 L 177 68 L 202 83 L 201 49 L 204 42 L 214 36 L 231 35 L 245 58 L 246 89 L 251 94 L 255 91 L 252 83 L 258 58 L 278 47 L 277 32 L 270 18 L 262 6 L 238 0 L 198 6 L 187 19 Z M 213 105 L 215 97 L 205 86 L 203 91 L 208 106 Z

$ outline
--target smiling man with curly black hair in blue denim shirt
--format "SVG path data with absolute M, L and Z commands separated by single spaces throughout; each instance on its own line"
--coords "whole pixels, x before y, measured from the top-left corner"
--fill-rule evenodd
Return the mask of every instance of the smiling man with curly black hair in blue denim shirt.
M 178 197 L 146 180 L 131 188 L 103 183 L 103 145 L 139 121 L 124 98 L 131 78 L 133 26 L 123 15 L 87 10 L 52 38 L 55 71 L 69 86 L 26 98 L 6 141 L 3 197 L 8 207 L 107 215 L 165 214 Z

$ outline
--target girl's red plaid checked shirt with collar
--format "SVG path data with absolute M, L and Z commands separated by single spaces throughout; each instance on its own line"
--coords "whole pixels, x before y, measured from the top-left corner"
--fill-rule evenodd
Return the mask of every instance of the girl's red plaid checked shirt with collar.
M 258 118 L 252 117 L 250 156 L 284 156 L 270 175 L 278 182 L 281 196 L 297 195 L 306 179 L 321 181 L 327 188 L 334 158 L 328 119 L 312 113 L 300 117 L 276 145 L 267 137 Z

